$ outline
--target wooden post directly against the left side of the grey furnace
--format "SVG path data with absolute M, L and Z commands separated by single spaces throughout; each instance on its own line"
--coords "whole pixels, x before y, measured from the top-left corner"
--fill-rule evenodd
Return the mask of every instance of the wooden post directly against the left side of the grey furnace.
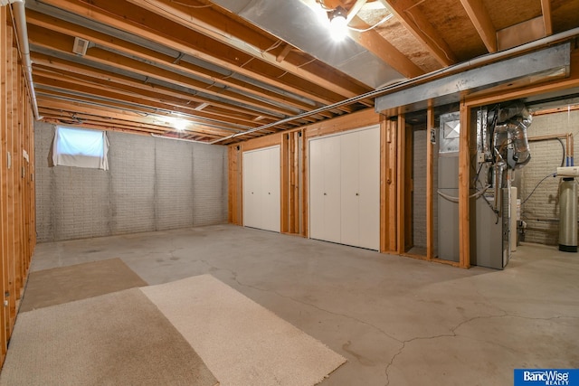
M 470 108 L 460 103 L 459 266 L 470 268 Z

